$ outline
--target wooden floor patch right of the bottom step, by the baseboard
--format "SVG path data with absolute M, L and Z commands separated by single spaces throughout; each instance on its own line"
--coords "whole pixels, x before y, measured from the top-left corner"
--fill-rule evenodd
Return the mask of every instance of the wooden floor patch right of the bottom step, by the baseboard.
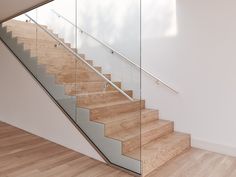
M 236 177 L 236 158 L 192 148 L 148 177 Z

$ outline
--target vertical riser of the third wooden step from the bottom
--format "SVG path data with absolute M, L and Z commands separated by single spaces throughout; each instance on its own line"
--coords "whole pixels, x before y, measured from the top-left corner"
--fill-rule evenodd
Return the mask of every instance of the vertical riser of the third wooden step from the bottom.
M 153 111 L 147 114 L 142 114 L 142 118 L 141 116 L 133 116 L 133 117 L 128 117 L 127 119 L 121 121 L 109 122 L 105 124 L 105 135 L 110 136 L 116 132 L 121 132 L 134 127 L 140 127 L 141 121 L 142 124 L 145 124 L 158 119 L 159 119 L 158 111 Z

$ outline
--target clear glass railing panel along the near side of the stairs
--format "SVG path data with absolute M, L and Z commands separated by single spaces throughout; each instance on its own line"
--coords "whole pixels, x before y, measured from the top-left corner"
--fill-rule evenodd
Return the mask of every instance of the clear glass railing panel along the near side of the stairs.
M 65 5 L 72 23 L 54 13 Z M 54 1 L 4 23 L 1 38 L 108 163 L 141 174 L 140 69 L 84 35 L 74 25 L 78 9 L 76 1 Z M 137 46 L 127 47 L 140 66 L 136 31 Z

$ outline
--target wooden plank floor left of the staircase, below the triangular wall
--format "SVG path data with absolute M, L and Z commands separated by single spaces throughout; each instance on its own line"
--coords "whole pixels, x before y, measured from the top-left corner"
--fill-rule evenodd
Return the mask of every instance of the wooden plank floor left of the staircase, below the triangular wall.
M 0 177 L 130 177 L 106 164 L 0 122 Z

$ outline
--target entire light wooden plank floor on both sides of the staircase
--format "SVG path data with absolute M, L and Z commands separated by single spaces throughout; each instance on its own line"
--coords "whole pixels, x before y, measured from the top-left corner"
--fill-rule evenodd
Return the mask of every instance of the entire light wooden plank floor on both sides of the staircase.
M 0 122 L 0 177 L 131 177 Z M 236 158 L 192 148 L 147 177 L 236 177 Z

